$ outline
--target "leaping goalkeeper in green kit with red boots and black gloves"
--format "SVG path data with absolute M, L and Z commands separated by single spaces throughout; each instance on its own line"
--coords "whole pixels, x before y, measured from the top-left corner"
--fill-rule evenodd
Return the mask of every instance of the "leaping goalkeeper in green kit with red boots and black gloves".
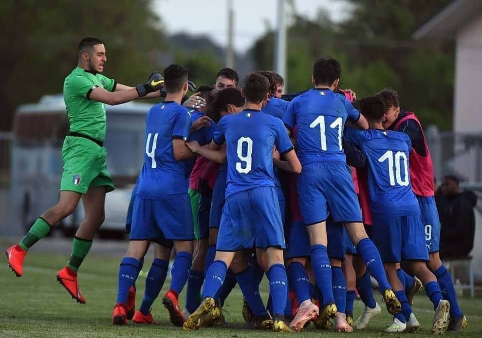
M 64 171 L 58 203 L 37 218 L 19 244 L 7 249 L 8 265 L 17 277 L 23 273 L 27 251 L 53 227 L 74 212 L 82 199 L 85 218 L 75 233 L 67 266 L 57 273 L 57 281 L 80 303 L 85 298 L 77 284 L 77 269 L 92 246 L 95 232 L 104 221 L 106 193 L 114 189 L 106 167 L 106 104 L 117 105 L 137 98 L 160 96 L 164 83 L 154 72 L 146 84 L 129 87 L 102 75 L 107 61 L 104 44 L 86 37 L 78 46 L 77 67 L 64 82 L 64 101 L 69 118 L 69 133 L 62 147 Z

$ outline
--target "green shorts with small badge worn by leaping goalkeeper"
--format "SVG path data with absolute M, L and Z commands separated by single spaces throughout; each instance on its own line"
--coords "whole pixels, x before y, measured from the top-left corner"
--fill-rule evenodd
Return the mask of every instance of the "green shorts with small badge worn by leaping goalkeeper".
M 89 188 L 95 187 L 105 187 L 106 193 L 114 190 L 106 156 L 106 148 L 97 143 L 82 137 L 66 136 L 62 146 L 64 172 L 60 191 L 85 194 Z

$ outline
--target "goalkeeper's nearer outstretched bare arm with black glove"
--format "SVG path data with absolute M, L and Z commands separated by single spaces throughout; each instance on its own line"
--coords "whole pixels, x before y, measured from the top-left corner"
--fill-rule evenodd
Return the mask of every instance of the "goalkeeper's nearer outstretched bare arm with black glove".
M 135 88 L 109 91 L 100 87 L 94 87 L 92 90 L 89 90 L 86 97 L 90 100 L 115 106 L 158 91 L 161 89 L 163 83 L 164 79 L 162 78 L 161 74 L 153 73 L 149 77 L 149 81 L 147 83 L 138 85 Z M 117 89 L 118 86 L 119 84 L 115 86 L 115 89 Z

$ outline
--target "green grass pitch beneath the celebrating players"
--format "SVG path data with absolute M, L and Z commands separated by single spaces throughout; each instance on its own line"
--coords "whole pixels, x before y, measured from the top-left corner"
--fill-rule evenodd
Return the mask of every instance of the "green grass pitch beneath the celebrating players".
M 3 243 L 2 243 L 3 244 Z M 119 243 L 119 246 L 123 246 Z M 6 246 L 3 246 L 6 248 Z M 157 325 L 112 326 L 111 314 L 116 300 L 117 272 L 120 257 L 117 255 L 90 254 L 79 272 L 79 283 L 87 300 L 77 304 L 67 291 L 56 282 L 56 273 L 62 268 L 67 255 L 38 253 L 34 249 L 26 258 L 24 275 L 15 277 L 7 268 L 3 257 L 0 269 L 0 337 L 269 337 L 273 332 L 248 330 L 241 316 L 241 290 L 236 287 L 228 297 L 224 309 L 229 324 L 222 328 L 206 328 L 195 332 L 185 332 L 170 324 L 167 310 L 160 299 L 153 304 L 152 314 Z M 150 267 L 151 257 L 137 283 L 137 302 L 140 305 L 144 292 L 145 275 Z M 167 279 L 160 297 L 169 285 Z M 263 281 L 261 295 L 267 298 L 267 284 Z M 181 304 L 184 305 L 184 293 Z M 377 302 L 382 306 L 382 315 L 373 320 L 367 330 L 343 334 L 353 338 L 403 337 L 407 334 L 388 334 L 383 332 L 391 317 L 386 312 L 381 296 Z M 482 299 L 463 298 L 460 300 L 468 326 L 459 337 L 482 337 Z M 419 293 L 415 297 L 414 312 L 420 321 L 421 329 L 412 334 L 414 337 L 428 337 L 430 334 L 433 308 L 427 297 Z M 362 311 L 362 302 L 355 301 L 355 319 Z M 302 337 L 333 337 L 339 335 L 333 330 L 315 331 L 313 325 L 302 333 Z M 284 334 L 283 334 L 284 335 Z

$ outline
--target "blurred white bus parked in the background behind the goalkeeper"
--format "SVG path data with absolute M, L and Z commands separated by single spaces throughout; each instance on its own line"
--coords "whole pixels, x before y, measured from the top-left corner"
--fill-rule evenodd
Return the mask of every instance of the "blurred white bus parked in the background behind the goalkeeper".
M 150 104 L 107 106 L 107 169 L 115 190 L 106 196 L 100 234 L 122 233 L 130 194 L 144 161 L 144 130 Z M 43 96 L 37 104 L 18 108 L 14 116 L 11 159 L 13 215 L 28 230 L 37 217 L 54 206 L 62 175 L 62 142 L 68 131 L 62 95 Z M 61 229 L 72 235 L 83 219 L 82 203 L 64 219 Z

